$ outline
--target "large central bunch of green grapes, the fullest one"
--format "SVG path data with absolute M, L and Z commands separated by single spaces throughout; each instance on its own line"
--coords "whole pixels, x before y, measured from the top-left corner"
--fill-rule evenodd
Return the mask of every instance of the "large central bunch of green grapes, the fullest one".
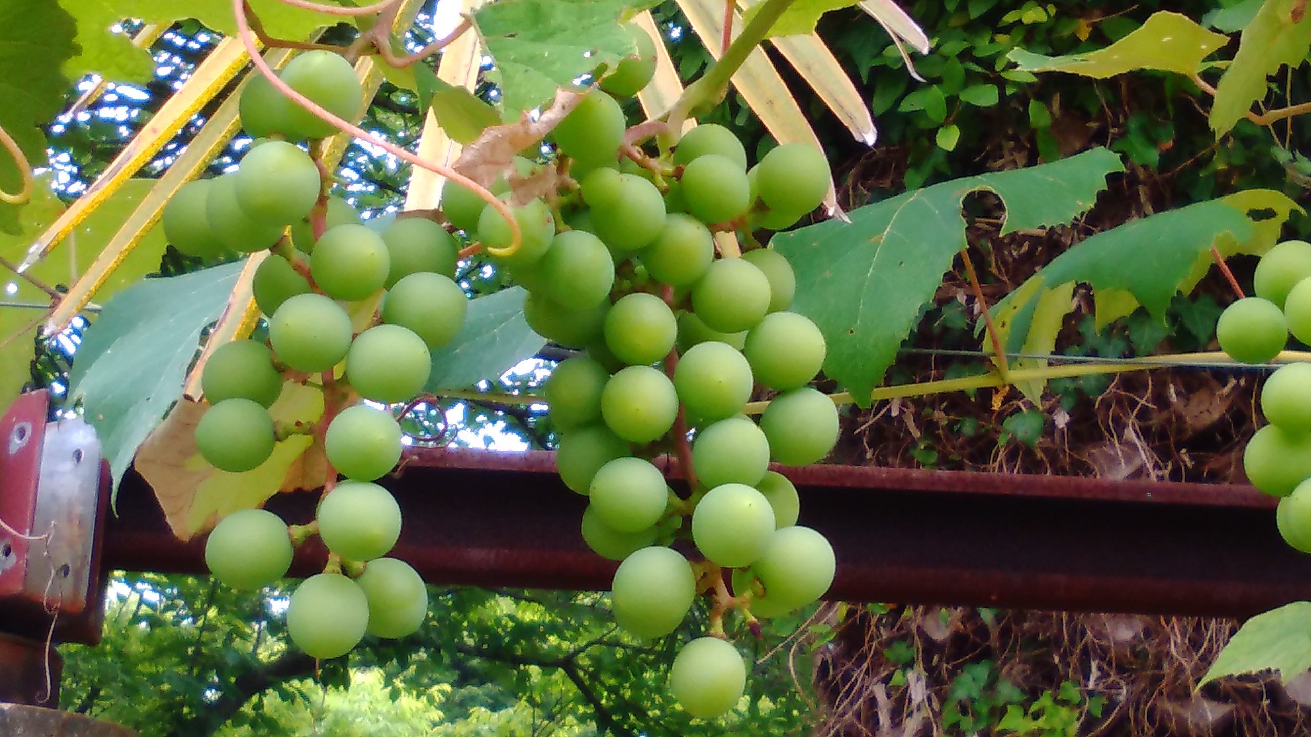
M 558 473 L 589 497 L 586 543 L 621 561 L 615 619 L 658 637 L 699 594 L 724 588 L 714 577 L 732 584 L 728 608 L 747 623 L 805 607 L 832 582 L 832 547 L 797 525 L 797 490 L 770 469 L 817 463 L 838 439 L 836 407 L 809 386 L 825 361 L 823 334 L 788 311 L 796 278 L 783 256 L 754 248 L 721 257 L 714 240 L 792 226 L 822 203 L 830 170 L 818 148 L 800 143 L 749 168 L 741 142 L 714 125 L 663 156 L 625 151 L 617 98 L 654 70 L 653 39 L 631 31 L 638 55 L 600 70 L 551 134 L 569 180 L 513 207 L 520 248 L 492 262 L 528 290 L 524 317 L 538 333 L 583 351 L 544 387 L 560 429 Z M 509 197 L 524 167 L 493 191 Z M 468 190 L 448 185 L 443 202 L 471 240 L 510 243 L 506 219 Z M 772 395 L 759 421 L 745 414 L 756 392 Z M 695 483 L 680 497 L 653 459 L 688 437 Z M 675 539 L 694 542 L 704 560 L 675 551 Z M 671 674 L 678 700 L 703 717 L 733 708 L 743 682 L 722 619 L 680 652 Z

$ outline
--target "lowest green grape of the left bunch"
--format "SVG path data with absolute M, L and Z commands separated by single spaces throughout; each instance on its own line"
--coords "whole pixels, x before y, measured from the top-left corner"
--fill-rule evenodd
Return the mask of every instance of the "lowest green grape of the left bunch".
M 340 573 L 305 578 L 287 605 L 287 635 L 307 656 L 330 660 L 349 653 L 368 628 L 368 597 Z

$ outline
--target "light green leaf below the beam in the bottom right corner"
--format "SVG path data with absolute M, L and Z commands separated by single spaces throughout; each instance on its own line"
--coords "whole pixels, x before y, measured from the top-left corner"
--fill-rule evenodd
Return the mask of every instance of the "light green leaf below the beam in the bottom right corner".
M 1307 669 L 1311 669 L 1311 602 L 1293 602 L 1244 622 L 1197 686 L 1262 670 L 1274 670 L 1287 682 Z

